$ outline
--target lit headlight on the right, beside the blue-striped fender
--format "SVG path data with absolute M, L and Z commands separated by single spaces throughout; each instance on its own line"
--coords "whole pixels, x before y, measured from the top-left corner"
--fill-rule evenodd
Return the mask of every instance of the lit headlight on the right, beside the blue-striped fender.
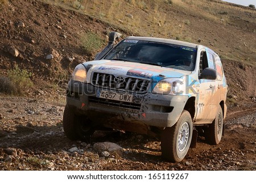
M 167 78 L 156 84 L 152 91 L 156 94 L 181 95 L 185 93 L 185 84 L 182 78 Z

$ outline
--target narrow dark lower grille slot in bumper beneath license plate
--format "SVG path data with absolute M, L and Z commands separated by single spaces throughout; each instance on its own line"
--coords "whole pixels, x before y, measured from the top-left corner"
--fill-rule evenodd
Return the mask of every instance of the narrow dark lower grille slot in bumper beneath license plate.
M 126 101 L 102 99 L 102 98 L 96 98 L 94 96 L 89 96 L 88 99 L 89 99 L 89 102 L 91 102 L 91 103 L 110 105 L 110 106 L 121 107 L 121 108 L 126 108 L 126 109 L 139 110 L 141 108 L 141 104 L 128 103 Z

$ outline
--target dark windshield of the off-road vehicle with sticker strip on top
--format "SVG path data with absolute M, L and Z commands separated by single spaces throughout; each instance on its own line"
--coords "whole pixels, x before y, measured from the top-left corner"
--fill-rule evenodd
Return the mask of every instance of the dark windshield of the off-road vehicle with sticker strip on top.
M 105 59 L 192 71 L 195 68 L 196 49 L 152 41 L 123 40 L 105 56 Z

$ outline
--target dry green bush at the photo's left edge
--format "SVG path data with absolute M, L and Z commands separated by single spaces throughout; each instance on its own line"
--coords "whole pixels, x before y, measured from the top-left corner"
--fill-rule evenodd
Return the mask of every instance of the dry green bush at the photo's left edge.
M 7 71 L 7 78 L 1 77 L 0 91 L 6 94 L 24 94 L 28 88 L 33 86 L 30 79 L 31 73 L 15 66 L 13 70 Z

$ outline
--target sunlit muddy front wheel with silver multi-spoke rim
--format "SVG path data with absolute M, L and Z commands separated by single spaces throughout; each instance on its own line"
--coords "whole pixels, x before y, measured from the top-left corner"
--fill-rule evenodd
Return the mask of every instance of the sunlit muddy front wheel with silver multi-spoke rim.
M 191 115 L 184 110 L 176 124 L 165 128 L 162 132 L 161 150 L 163 158 L 170 162 L 183 160 L 191 144 L 192 132 Z

